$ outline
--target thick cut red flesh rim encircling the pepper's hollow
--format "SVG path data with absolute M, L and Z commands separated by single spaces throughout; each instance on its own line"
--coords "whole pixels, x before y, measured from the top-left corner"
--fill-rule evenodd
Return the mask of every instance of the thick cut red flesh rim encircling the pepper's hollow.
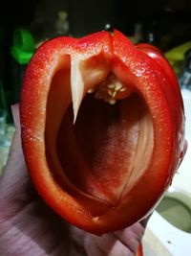
M 91 214 L 93 209 L 99 208 L 98 204 L 81 196 L 73 197 L 61 189 L 46 160 L 45 109 L 50 82 L 53 72 L 63 64 L 60 57 L 78 53 L 84 56 L 101 53 L 121 81 L 133 84 L 150 108 L 155 130 L 155 151 L 148 172 L 130 190 L 127 203 L 106 211 L 98 220 Z M 81 39 L 55 38 L 38 49 L 28 66 L 20 104 L 25 159 L 42 198 L 61 217 L 82 229 L 102 234 L 142 219 L 169 186 L 179 167 L 185 145 L 180 90 L 172 79 L 174 75 L 164 72 L 159 59 L 160 56 L 157 60 L 150 58 L 147 49 L 138 50 L 125 35 L 116 31 L 113 36 L 100 32 Z M 158 169 L 159 173 L 153 175 Z

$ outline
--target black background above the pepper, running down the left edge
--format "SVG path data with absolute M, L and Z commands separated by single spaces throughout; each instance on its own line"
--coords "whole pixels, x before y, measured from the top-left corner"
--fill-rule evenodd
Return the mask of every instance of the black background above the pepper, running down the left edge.
M 139 24 L 139 40 L 152 42 L 162 51 L 191 40 L 190 0 L 18 0 L 0 5 L 0 80 L 9 105 L 19 101 L 12 88 L 19 86 L 23 75 L 23 67 L 11 57 L 13 30 L 27 28 L 36 40 L 53 37 L 61 10 L 68 13 L 69 34 L 76 37 L 106 27 L 132 36 Z

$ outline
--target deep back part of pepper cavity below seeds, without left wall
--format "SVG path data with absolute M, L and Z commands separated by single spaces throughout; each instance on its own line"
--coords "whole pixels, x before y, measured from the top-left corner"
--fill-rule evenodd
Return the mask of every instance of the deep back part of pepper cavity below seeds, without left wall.
M 86 95 L 75 124 L 71 105 L 57 134 L 62 169 L 77 189 L 116 205 L 149 164 L 151 124 L 138 94 L 116 105 Z

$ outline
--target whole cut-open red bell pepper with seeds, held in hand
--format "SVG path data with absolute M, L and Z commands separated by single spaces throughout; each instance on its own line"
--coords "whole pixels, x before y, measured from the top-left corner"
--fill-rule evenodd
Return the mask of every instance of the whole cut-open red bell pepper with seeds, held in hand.
M 20 103 L 26 163 L 41 197 L 79 228 L 139 221 L 179 167 L 182 99 L 158 61 L 117 31 L 57 37 L 32 57 Z

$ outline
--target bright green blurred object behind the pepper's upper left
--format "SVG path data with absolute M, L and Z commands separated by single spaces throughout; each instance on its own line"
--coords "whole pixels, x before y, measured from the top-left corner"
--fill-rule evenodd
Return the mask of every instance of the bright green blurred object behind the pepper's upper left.
M 35 51 L 34 39 L 30 31 L 17 28 L 13 32 L 13 45 L 11 56 L 19 64 L 27 64 Z

